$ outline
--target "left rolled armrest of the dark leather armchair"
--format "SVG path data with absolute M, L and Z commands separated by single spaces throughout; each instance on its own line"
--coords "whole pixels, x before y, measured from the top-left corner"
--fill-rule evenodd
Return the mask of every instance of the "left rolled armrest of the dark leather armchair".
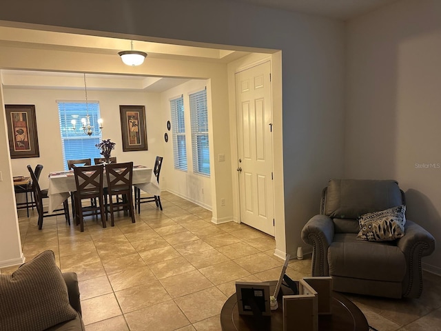
M 327 253 L 334 238 L 334 222 L 326 215 L 309 219 L 302 229 L 302 240 L 312 245 L 311 276 L 329 276 Z

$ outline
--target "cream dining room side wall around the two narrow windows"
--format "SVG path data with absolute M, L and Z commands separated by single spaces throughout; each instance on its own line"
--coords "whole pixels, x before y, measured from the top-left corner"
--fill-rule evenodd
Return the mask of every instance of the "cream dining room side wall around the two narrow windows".
M 163 114 L 163 120 L 161 122 L 161 128 L 164 132 L 167 131 L 167 121 L 172 121 L 170 112 L 170 100 L 175 99 L 183 95 L 184 109 L 185 109 L 185 131 L 187 132 L 187 171 L 174 169 L 174 157 L 173 157 L 173 129 L 167 131 L 169 136 L 168 143 L 164 144 L 164 161 L 163 168 L 161 169 L 161 181 L 165 182 L 165 187 L 168 191 L 177 194 L 180 197 L 184 197 L 189 201 L 198 203 L 203 207 L 212 209 L 212 184 L 211 178 L 200 176 L 193 173 L 193 159 L 192 159 L 192 137 L 190 134 L 191 122 L 190 122 L 190 107 L 189 107 L 189 94 L 203 90 L 207 86 L 205 80 L 192 80 L 187 83 L 181 84 L 176 88 L 172 88 L 161 93 L 161 113 Z M 209 91 L 207 91 L 208 94 Z M 208 105 L 211 108 L 211 105 Z M 162 184 L 162 182 L 161 182 Z

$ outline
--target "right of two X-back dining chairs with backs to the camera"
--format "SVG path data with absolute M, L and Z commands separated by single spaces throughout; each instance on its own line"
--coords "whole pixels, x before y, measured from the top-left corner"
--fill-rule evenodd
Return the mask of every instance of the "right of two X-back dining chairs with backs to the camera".
M 110 205 L 110 224 L 115 225 L 114 212 L 121 210 L 128 210 L 132 223 L 135 223 L 132 197 L 133 162 L 106 164 L 105 176 Z M 112 198 L 118 195 L 121 195 L 122 199 L 113 201 Z

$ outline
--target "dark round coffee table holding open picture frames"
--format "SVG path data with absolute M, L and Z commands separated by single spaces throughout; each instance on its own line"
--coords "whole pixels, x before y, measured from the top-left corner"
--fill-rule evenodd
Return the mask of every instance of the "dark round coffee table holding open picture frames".
M 278 301 L 278 308 L 271 311 L 271 316 L 256 318 L 252 315 L 239 315 L 236 293 L 234 293 L 223 305 L 220 325 L 223 331 L 281 331 L 283 330 L 282 301 Z M 365 315 L 352 301 L 343 294 L 333 292 L 332 314 L 318 316 L 318 330 L 369 331 L 369 325 Z

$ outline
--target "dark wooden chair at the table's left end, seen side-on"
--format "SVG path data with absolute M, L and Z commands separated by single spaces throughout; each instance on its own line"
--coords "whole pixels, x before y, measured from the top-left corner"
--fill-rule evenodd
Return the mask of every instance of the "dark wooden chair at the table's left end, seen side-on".
M 27 168 L 29 170 L 30 178 L 32 180 L 32 192 L 34 194 L 35 207 L 37 208 L 37 212 L 39 214 L 39 220 L 37 223 L 39 225 L 39 230 L 43 228 L 44 217 L 64 215 L 66 221 L 70 225 L 68 199 L 65 199 L 65 201 L 63 201 L 63 209 L 54 210 L 55 212 L 54 214 L 53 213 L 49 214 L 47 211 L 45 212 L 43 210 L 43 199 L 48 198 L 48 189 L 41 190 L 39 181 L 37 179 L 37 174 L 39 175 L 41 173 L 41 170 L 43 169 L 43 165 L 41 164 L 37 165 L 37 167 L 35 168 L 37 174 L 36 172 L 34 172 L 34 170 L 32 170 L 32 167 L 30 165 L 28 165 Z

